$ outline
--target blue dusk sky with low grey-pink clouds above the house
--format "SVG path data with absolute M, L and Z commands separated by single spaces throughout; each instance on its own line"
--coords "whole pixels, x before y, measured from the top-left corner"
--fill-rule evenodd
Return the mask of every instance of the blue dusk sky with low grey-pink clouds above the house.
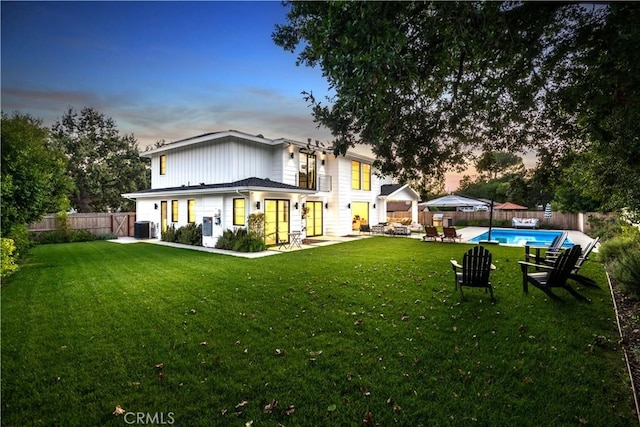
M 286 13 L 276 1 L 2 1 L 2 111 L 50 126 L 93 107 L 141 147 L 228 129 L 330 141 L 301 95 L 326 95 L 321 70 L 271 39 Z

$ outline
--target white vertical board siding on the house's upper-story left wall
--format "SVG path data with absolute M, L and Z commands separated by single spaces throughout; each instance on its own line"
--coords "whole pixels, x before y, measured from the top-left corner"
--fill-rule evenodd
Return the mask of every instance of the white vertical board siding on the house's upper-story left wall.
M 248 177 L 271 178 L 274 163 L 282 153 L 279 146 L 237 138 L 201 143 L 168 150 L 151 159 L 151 188 L 218 184 Z M 160 156 L 166 155 L 166 174 L 160 175 Z M 275 177 L 274 177 L 275 178 Z

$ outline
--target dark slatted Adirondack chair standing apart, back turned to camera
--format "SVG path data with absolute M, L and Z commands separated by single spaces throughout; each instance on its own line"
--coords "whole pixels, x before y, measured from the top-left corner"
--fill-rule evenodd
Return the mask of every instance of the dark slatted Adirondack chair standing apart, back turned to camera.
M 491 293 L 491 300 L 495 301 L 493 296 L 493 287 L 489 281 L 491 270 L 495 270 L 496 266 L 491 264 L 491 252 L 483 246 L 475 246 L 469 249 L 462 257 L 462 265 L 456 260 L 451 260 L 453 273 L 456 280 L 456 289 L 460 286 L 460 295 L 464 299 L 462 292 L 463 286 L 473 288 L 485 288 Z

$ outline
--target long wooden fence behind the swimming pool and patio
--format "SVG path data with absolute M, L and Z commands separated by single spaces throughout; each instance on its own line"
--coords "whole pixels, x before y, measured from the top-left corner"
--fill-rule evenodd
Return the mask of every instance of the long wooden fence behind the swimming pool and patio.
M 418 212 L 418 222 L 420 224 L 432 224 L 433 214 L 442 214 L 444 218 L 451 218 L 451 225 L 456 225 L 459 222 L 465 222 L 466 224 L 473 225 L 489 222 L 489 212 L 458 212 L 458 211 L 445 211 L 445 212 Z M 554 228 L 559 230 L 578 230 L 583 233 L 589 234 L 591 231 L 591 218 L 597 218 L 600 220 L 606 220 L 615 217 L 616 214 L 612 213 L 599 213 L 599 212 L 586 212 L 586 213 L 562 213 L 552 212 L 551 218 L 546 219 L 544 217 L 544 211 L 493 211 L 493 221 L 507 221 L 509 226 L 513 217 L 519 218 L 538 218 L 540 225 L 544 228 Z M 389 218 L 406 218 L 410 217 L 409 212 L 389 212 Z

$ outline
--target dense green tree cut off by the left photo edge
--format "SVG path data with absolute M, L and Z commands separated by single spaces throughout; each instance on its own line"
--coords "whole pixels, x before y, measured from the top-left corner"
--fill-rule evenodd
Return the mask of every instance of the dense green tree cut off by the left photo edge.
M 66 158 L 48 143 L 49 130 L 28 114 L 2 113 L 2 235 L 69 206 Z

